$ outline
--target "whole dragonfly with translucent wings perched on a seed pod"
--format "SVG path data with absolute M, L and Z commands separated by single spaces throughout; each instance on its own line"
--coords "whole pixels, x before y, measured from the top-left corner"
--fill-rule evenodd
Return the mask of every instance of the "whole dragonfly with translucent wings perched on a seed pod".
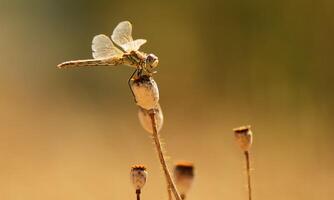
M 93 59 L 66 61 L 57 65 L 57 67 L 64 69 L 85 66 L 126 65 L 136 69 L 128 80 L 130 85 L 131 80 L 144 74 L 152 76 L 156 73 L 155 68 L 159 63 L 158 57 L 152 53 L 146 54 L 139 51 L 139 48 L 145 43 L 145 39 L 134 40 L 131 23 L 123 21 L 116 26 L 110 38 L 104 34 L 96 35 L 93 38 Z

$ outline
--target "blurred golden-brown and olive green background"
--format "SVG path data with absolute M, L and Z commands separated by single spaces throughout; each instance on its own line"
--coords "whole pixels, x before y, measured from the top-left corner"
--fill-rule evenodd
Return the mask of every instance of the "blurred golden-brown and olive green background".
M 169 164 L 189 160 L 189 199 L 246 199 L 232 128 L 251 124 L 254 199 L 334 196 L 334 2 L 0 1 L 0 199 L 167 199 L 128 89 L 132 69 L 58 70 L 129 20 L 159 56 Z

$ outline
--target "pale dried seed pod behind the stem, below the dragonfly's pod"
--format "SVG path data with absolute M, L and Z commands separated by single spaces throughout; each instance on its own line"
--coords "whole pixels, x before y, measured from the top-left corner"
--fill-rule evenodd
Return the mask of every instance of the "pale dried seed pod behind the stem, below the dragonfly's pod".
M 164 116 L 160 104 L 158 103 L 154 109 L 146 110 L 139 107 L 138 118 L 142 127 L 149 133 L 153 134 L 152 121 L 150 113 L 155 112 L 155 120 L 157 124 L 157 131 L 159 132 L 164 122 Z

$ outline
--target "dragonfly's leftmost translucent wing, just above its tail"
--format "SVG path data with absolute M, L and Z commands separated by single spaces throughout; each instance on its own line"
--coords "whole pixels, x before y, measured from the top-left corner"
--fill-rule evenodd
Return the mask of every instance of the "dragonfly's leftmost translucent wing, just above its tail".
M 102 59 L 120 55 L 123 52 L 115 47 L 110 38 L 106 35 L 96 35 L 92 41 L 93 58 Z

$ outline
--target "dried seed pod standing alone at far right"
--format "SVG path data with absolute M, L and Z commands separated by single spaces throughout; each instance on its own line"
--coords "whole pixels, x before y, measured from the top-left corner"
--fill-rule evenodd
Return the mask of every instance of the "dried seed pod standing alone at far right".
M 235 139 L 243 151 L 248 151 L 252 146 L 253 134 L 250 128 L 251 126 L 242 126 L 233 129 Z

